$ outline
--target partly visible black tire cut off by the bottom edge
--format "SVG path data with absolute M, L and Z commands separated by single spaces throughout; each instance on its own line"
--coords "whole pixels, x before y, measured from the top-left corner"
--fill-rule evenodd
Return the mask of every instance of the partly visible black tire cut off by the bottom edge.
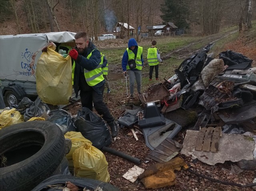
M 70 181 L 74 185 L 81 188 L 86 188 L 88 190 L 94 190 L 96 187 L 101 187 L 103 191 L 119 191 L 115 186 L 102 182 L 99 180 L 89 179 L 89 178 L 80 178 L 69 175 L 54 175 L 48 179 L 42 181 L 37 185 L 32 191 L 59 191 L 62 190 L 66 185 L 66 182 Z M 54 188 L 54 185 L 56 187 Z

